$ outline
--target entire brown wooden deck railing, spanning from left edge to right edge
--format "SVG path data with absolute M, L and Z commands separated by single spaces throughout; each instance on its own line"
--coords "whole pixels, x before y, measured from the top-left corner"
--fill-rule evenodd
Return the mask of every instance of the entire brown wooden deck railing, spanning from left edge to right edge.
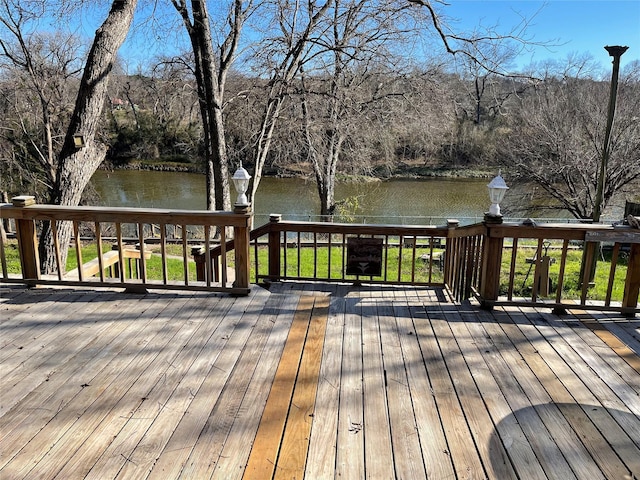
M 142 225 L 157 224 L 160 226 L 161 255 L 163 279 L 159 283 L 162 288 L 204 288 L 247 292 L 249 288 L 250 263 L 253 263 L 254 281 L 261 280 L 321 280 L 321 281 L 367 281 L 371 283 L 396 283 L 411 285 L 446 285 L 455 299 L 463 301 L 476 296 L 487 308 L 500 304 L 536 304 L 563 309 L 579 305 L 581 308 L 611 309 L 625 313 L 638 312 L 640 292 L 640 230 L 629 226 L 609 226 L 602 224 L 514 224 L 485 221 L 480 224 L 459 226 L 457 221 L 449 221 L 446 226 L 414 226 L 414 225 L 361 225 L 324 222 L 281 221 L 279 215 L 273 215 L 269 223 L 249 232 L 251 214 L 248 211 L 209 212 L 188 210 L 160 210 L 139 208 L 107 208 L 107 207 L 63 207 L 53 205 L 35 205 L 31 202 L 16 202 L 15 205 L 0 205 L 0 217 L 13 218 L 16 221 L 16 238 L 19 242 L 22 277 L 24 283 L 86 283 L 99 285 L 130 286 L 120 275 L 120 281 L 103 278 L 105 261 L 101 247 L 98 246 L 98 273 L 100 278 L 84 279 L 79 269 L 79 280 L 69 281 L 62 277 L 62 267 L 58 265 L 58 280 L 41 278 L 38 257 L 37 222 L 49 221 L 55 233 L 58 225 L 71 221 L 75 241 L 80 242 L 82 222 L 87 222 L 95 229 L 97 241 L 101 240 L 103 224 L 115 224 L 117 244 L 120 251 L 125 247 L 122 236 L 123 224 L 137 226 L 137 235 L 141 249 L 141 271 L 143 286 L 152 286 L 154 281 L 147 281 L 145 263 L 147 252 Z M 166 235 L 165 228 L 177 225 L 182 228 L 184 282 L 176 286 L 167 280 L 166 273 Z M 199 282 L 192 284 L 189 280 L 188 241 L 186 226 L 199 226 L 204 229 L 205 246 L 202 254 L 191 252 L 197 261 L 197 278 Z M 220 243 L 210 246 L 211 229 L 220 232 Z M 234 229 L 234 238 L 227 240 L 225 229 Z M 352 270 L 347 273 L 347 243 L 349 238 L 378 238 L 373 243 L 382 245 L 381 273 L 364 275 L 364 270 Z M 608 276 L 606 298 L 603 302 L 594 303 L 589 300 L 590 284 L 585 273 L 581 278 L 572 280 L 579 283 L 579 299 L 564 298 L 564 290 L 569 283 L 568 256 L 570 245 L 586 245 L 587 254 L 582 263 L 587 264 L 589 258 L 596 254 L 594 250 L 598 242 L 609 242 L 613 245 L 612 261 Z M 362 243 L 362 242 L 360 242 Z M 372 243 L 372 242 L 368 242 Z M 373 244 L 372 243 L 372 244 Z M 554 247 L 550 247 L 553 244 Z M 250 262 L 250 245 L 253 245 L 254 260 Z M 628 245 L 628 246 L 627 246 Z M 268 250 L 266 261 L 258 253 Z M 553 268 L 547 250 L 554 248 L 557 267 Z M 572 247 L 573 248 L 573 247 Z M 584 248 L 584 247 L 583 247 Z M 61 263 L 59 245 L 56 244 L 56 258 Z M 80 249 L 77 263 L 82 265 Z M 302 252 L 312 255 L 304 262 Z M 18 281 L 9 278 L 6 272 L 4 244 L 1 249 L 3 265 L 3 281 Z M 522 280 L 522 273 L 517 272 L 521 265 L 522 255 L 531 256 L 530 267 Z M 617 272 L 624 268 L 621 255 L 629 253 L 626 262 L 626 275 Z M 235 281 L 231 287 L 227 285 L 227 255 L 232 254 L 235 263 Z M 120 256 L 121 257 L 121 256 Z M 118 262 L 122 263 L 122 258 Z M 324 258 L 324 263 L 319 258 Z M 95 263 L 95 262 L 94 262 Z M 107 262 L 108 263 L 108 262 Z M 391 265 L 393 264 L 393 268 Z M 93 265 L 93 264 L 92 264 Z M 322 265 L 322 269 L 319 266 Z M 434 269 L 436 266 L 438 269 Z M 308 268 L 307 268 L 308 267 Z M 221 270 L 222 269 L 222 270 Z M 324 269 L 324 270 L 323 270 Z M 557 269 L 557 271 L 556 271 Z M 95 268 L 92 269 L 92 271 Z M 320 271 L 323 270 L 323 271 Z M 440 271 L 442 270 L 442 272 Z M 502 272 L 504 270 L 504 272 Z M 586 270 L 585 270 L 586 271 Z M 418 274 L 419 273 L 419 274 Z M 437 274 L 437 275 L 436 275 Z M 551 278 L 553 276 L 553 279 Z M 548 285 L 544 282 L 551 282 Z M 516 282 L 522 282 L 516 288 Z M 614 286 L 623 286 L 623 293 L 614 295 Z M 525 286 L 528 285 L 526 288 Z M 552 288 L 555 287 L 555 288 Z M 530 298 L 524 298 L 529 289 Z M 520 297 L 516 297 L 519 295 Z M 615 297 L 615 298 L 614 298 Z

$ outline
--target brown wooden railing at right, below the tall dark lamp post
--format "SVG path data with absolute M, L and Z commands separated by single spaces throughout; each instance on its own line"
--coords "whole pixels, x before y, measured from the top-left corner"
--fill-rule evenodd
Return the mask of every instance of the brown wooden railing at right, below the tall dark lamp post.
M 478 299 L 485 308 L 493 308 L 494 305 L 504 304 L 529 304 L 545 305 L 562 311 L 567 308 L 575 307 L 576 304 L 582 308 L 600 309 L 600 310 L 618 310 L 626 314 L 638 313 L 638 292 L 640 290 L 640 230 L 633 229 L 628 226 L 603 225 L 603 224 L 542 224 L 542 225 L 521 225 L 514 223 L 484 223 L 486 233 L 484 235 L 484 246 L 482 248 L 482 267 L 478 282 L 475 283 L 472 290 L 477 294 Z M 471 233 L 477 233 L 478 230 L 469 229 L 468 236 Z M 452 236 L 458 237 L 463 233 L 463 229 L 459 229 Z M 505 240 L 511 239 L 510 244 Z M 527 247 L 521 240 L 530 240 L 534 244 Z M 549 282 L 549 259 L 545 251 L 551 243 L 561 242 L 556 248 L 560 250 L 558 259 L 558 274 L 556 277 L 555 291 L 549 289 L 548 285 L 542 285 L 543 282 Z M 589 271 L 583 268 L 583 276 L 578 279 L 580 284 L 580 298 L 577 303 L 573 299 L 563 298 L 563 288 L 566 284 L 566 265 L 567 255 L 570 242 L 579 242 L 585 250 L 582 263 L 590 265 L 593 257 L 596 255 L 597 242 L 609 242 L 613 244 L 612 261 L 610 264 L 609 277 L 607 281 L 607 291 L 604 302 L 594 302 L 588 299 L 592 284 L 589 282 Z M 545 247 L 545 243 L 547 246 Z M 617 278 L 616 268 L 620 265 L 618 261 L 619 255 L 622 253 L 621 246 L 629 245 L 629 261 L 627 265 L 627 273 L 624 280 L 623 297 L 620 299 L 619 306 L 613 305 L 612 291 L 615 278 Z M 525 248 L 534 249 L 535 254 L 532 258 L 531 267 L 525 277 L 525 282 L 529 279 L 531 282 L 531 299 L 514 299 L 514 282 L 515 270 L 518 257 L 518 251 Z M 510 249 L 511 252 L 505 255 L 505 251 Z M 503 265 L 507 266 L 508 280 L 501 279 L 501 269 Z M 535 268 L 533 271 L 532 269 Z M 533 273 L 531 278 L 529 274 Z M 524 286 L 524 282 L 523 282 Z M 501 289 L 506 288 L 507 296 L 503 297 Z M 552 297 L 551 299 L 540 298 L 540 296 Z

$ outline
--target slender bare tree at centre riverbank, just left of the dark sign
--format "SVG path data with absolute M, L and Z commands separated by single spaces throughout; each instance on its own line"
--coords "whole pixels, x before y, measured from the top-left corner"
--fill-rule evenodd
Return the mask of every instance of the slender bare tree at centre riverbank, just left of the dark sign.
M 305 62 L 300 75 L 304 140 L 323 216 L 335 209 L 336 172 L 346 143 L 359 125 L 384 125 L 377 107 L 404 93 L 394 88 L 402 72 L 391 49 L 407 33 L 406 10 L 404 2 L 334 1 L 324 34 Z

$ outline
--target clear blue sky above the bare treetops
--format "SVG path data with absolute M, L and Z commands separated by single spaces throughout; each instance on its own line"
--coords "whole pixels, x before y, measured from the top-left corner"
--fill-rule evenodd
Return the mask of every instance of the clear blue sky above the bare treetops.
M 447 15 L 456 33 L 479 25 L 507 33 L 523 17 L 531 19 L 528 38 L 553 45 L 524 52 L 517 61 L 519 67 L 548 59 L 561 61 L 577 53 L 591 55 L 608 70 L 611 62 L 605 45 L 629 47 L 622 57 L 623 68 L 630 61 L 640 59 L 640 0 L 448 0 L 447 3 L 446 6 L 434 5 Z M 161 12 L 169 21 L 178 20 L 168 0 L 161 0 L 158 5 L 161 8 L 156 13 Z M 150 7 L 149 2 L 141 2 L 141 6 Z M 139 13 L 142 15 L 138 18 L 145 17 L 144 11 Z M 98 15 L 94 9 L 85 11 L 75 26 L 76 32 L 91 38 L 103 18 L 96 18 Z M 156 49 L 171 48 L 170 37 L 154 41 L 149 38 L 149 30 L 144 24 L 135 27 L 121 50 L 129 71 L 135 70 L 139 62 L 148 61 Z M 184 39 L 181 25 L 179 32 Z

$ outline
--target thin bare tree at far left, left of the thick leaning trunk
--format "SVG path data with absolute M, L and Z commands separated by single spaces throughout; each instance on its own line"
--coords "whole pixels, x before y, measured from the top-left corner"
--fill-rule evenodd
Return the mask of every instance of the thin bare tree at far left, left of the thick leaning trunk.
M 41 174 L 38 182 L 47 186 L 44 200 L 48 202 L 52 201 L 58 175 L 56 157 L 82 68 L 81 43 L 60 32 L 29 30 L 30 22 L 41 13 L 37 8 L 27 10 L 11 0 L 2 0 L 1 5 L 0 25 L 5 34 L 0 38 L 0 66 L 11 84 L 3 96 L 7 115 L 1 135 L 12 146 L 12 156 L 21 157 L 27 165 L 35 159 L 37 168 L 29 170 Z M 4 161 L 12 156 L 3 156 Z M 34 192 L 43 190 L 34 188 Z

